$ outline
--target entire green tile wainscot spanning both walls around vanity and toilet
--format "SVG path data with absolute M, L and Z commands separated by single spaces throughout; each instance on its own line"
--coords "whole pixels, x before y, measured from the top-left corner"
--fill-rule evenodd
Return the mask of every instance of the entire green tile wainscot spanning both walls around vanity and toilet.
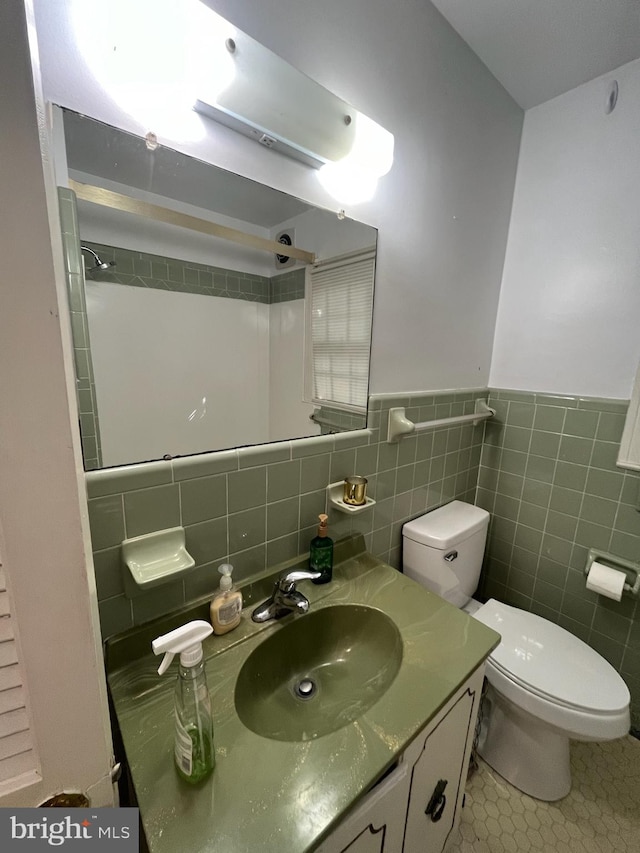
M 473 411 L 484 425 L 441 428 L 386 442 L 388 410 L 424 421 Z M 368 477 L 375 506 L 329 510 L 334 538 L 358 531 L 368 549 L 401 565 L 402 525 L 450 500 L 491 513 L 479 594 L 567 628 L 607 658 L 632 693 L 640 727 L 640 619 L 634 599 L 587 591 L 589 548 L 640 561 L 640 475 L 616 467 L 625 401 L 476 389 L 374 395 L 366 430 L 281 442 L 86 475 L 104 636 L 209 596 L 230 561 L 245 580 L 308 551 L 326 486 Z M 182 524 L 196 567 L 185 579 L 129 599 L 120 542 Z

